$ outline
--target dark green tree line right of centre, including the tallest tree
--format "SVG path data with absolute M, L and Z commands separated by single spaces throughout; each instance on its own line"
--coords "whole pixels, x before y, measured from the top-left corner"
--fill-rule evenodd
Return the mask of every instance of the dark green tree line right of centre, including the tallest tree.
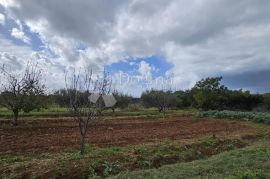
M 197 108 L 201 110 L 270 110 L 269 94 L 252 94 L 249 91 L 231 90 L 221 84 L 222 77 L 205 78 L 193 88 L 179 91 L 146 91 L 141 96 L 145 107 Z

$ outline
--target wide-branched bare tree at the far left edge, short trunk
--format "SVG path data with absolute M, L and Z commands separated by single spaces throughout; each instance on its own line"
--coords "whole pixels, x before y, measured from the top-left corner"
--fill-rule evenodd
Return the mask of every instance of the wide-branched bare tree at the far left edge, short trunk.
M 42 72 L 38 64 L 28 62 L 22 74 L 9 72 L 3 65 L 0 67 L 1 103 L 13 112 L 14 125 L 18 125 L 21 110 L 29 112 L 40 106 L 39 96 L 44 94 Z

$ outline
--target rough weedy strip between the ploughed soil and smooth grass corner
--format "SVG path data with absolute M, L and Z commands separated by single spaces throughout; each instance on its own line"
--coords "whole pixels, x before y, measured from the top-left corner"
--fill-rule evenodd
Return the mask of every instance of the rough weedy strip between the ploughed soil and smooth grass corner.
M 188 145 L 179 145 L 169 141 L 158 145 L 141 144 L 135 147 L 99 148 L 88 145 L 85 155 L 80 155 L 79 150 L 70 150 L 60 154 L 3 155 L 0 173 L 2 173 L 1 177 L 7 178 L 15 174 L 22 176 L 25 167 L 35 167 L 31 165 L 38 160 L 39 163 L 45 163 L 39 171 L 40 176 L 44 171 L 54 171 L 50 177 L 108 177 L 125 171 L 205 159 L 246 145 L 240 139 L 220 137 L 210 137 Z M 15 174 L 11 168 L 16 170 Z M 33 174 L 28 173 L 28 175 Z

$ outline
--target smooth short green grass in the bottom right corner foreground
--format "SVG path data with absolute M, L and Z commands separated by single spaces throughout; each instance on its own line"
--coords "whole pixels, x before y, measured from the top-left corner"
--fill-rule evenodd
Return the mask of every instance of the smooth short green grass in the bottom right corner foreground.
M 233 150 L 158 169 L 125 172 L 113 178 L 270 178 L 270 145 Z

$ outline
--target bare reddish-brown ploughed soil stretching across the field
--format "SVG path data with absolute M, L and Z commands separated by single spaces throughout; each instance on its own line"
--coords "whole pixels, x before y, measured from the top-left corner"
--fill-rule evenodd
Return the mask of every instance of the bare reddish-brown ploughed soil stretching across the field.
M 119 146 L 187 141 L 209 135 L 239 135 L 250 129 L 233 121 L 179 117 L 170 120 L 112 120 L 90 127 L 88 141 L 98 146 Z M 73 120 L 32 120 L 12 127 L 0 121 L 0 154 L 46 152 L 79 148 L 79 128 Z

